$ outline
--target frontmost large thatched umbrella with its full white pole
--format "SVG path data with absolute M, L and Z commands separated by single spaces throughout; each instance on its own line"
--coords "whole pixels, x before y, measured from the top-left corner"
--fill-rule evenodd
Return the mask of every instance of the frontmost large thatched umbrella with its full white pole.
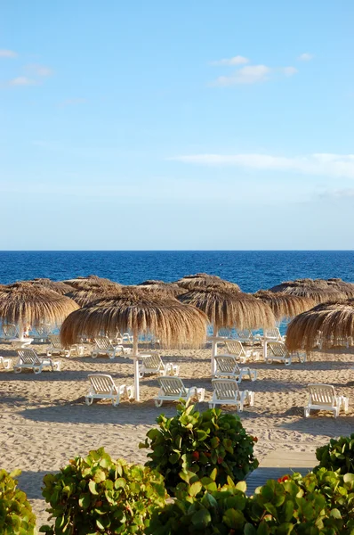
M 68 346 L 83 333 L 94 337 L 101 331 L 112 335 L 133 332 L 135 399 L 139 400 L 138 334 L 153 334 L 165 347 L 200 347 L 205 342 L 206 324 L 205 314 L 194 307 L 133 292 L 76 310 L 61 326 L 60 340 Z

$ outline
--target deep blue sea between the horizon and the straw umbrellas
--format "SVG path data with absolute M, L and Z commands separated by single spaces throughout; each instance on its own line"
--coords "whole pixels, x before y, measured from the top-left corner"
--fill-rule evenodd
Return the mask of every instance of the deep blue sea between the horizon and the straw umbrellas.
M 0 284 L 98 275 L 121 284 L 210 273 L 244 292 L 295 278 L 354 282 L 354 251 L 0 251 Z

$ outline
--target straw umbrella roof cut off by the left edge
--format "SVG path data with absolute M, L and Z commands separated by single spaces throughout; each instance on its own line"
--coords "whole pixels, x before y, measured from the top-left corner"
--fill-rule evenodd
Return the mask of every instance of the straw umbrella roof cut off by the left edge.
M 75 301 L 39 285 L 15 283 L 0 290 L 0 317 L 14 324 L 60 325 L 77 308 Z

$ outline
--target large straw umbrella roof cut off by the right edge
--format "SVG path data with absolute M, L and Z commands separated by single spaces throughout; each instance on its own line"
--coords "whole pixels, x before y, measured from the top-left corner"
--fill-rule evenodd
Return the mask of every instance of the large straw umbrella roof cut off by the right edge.
M 322 303 L 302 312 L 288 325 L 286 346 L 289 350 L 312 350 L 321 339 L 322 347 L 340 345 L 354 337 L 354 300 Z

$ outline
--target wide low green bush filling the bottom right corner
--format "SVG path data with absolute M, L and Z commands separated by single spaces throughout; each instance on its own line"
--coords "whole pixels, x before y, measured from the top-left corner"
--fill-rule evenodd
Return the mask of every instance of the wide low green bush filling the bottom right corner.
M 217 489 L 211 478 L 189 476 L 188 492 L 157 509 L 147 535 L 352 535 L 354 474 L 321 469 L 267 481 L 253 498 L 245 481 Z

